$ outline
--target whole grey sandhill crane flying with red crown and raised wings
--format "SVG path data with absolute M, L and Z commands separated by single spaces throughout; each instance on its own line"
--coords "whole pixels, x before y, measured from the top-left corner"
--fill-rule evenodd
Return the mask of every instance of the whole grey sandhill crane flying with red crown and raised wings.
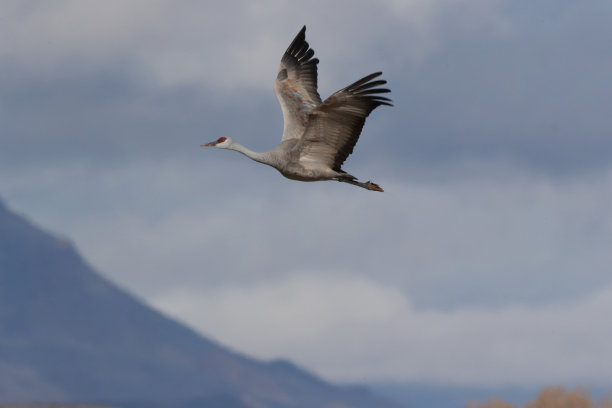
M 253 152 L 229 137 L 202 146 L 235 150 L 293 180 L 337 180 L 383 191 L 371 181 L 359 182 L 341 167 L 353 152 L 370 112 L 380 105 L 393 106 L 389 98 L 378 95 L 390 92 L 380 88 L 387 81 L 374 80 L 382 74 L 376 72 L 322 102 L 317 92 L 319 60 L 313 56 L 304 26 L 285 51 L 274 84 L 285 121 L 281 143 L 274 150 Z

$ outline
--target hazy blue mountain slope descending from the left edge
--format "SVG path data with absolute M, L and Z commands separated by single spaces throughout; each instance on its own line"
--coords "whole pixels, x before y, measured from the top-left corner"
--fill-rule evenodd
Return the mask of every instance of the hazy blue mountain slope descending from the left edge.
M 120 232 L 118 232 L 120 233 Z M 0 403 L 391 408 L 287 361 L 231 352 L 104 279 L 0 201 Z

